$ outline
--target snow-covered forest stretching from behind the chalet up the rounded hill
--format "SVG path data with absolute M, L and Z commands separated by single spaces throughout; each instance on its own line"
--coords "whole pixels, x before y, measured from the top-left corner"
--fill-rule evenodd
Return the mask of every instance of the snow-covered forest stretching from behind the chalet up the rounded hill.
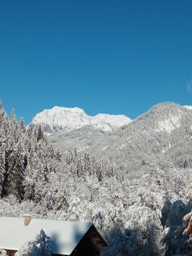
M 168 102 L 115 131 L 47 137 L 1 104 L 1 215 L 94 222 L 109 243 L 103 256 L 185 255 L 191 124 L 191 110 Z

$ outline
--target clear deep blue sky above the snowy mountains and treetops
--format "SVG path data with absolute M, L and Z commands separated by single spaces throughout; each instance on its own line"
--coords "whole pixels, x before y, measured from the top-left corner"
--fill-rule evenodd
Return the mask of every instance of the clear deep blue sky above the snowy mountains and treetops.
M 54 105 L 130 118 L 192 105 L 191 0 L 3 0 L 0 98 L 26 123 Z

